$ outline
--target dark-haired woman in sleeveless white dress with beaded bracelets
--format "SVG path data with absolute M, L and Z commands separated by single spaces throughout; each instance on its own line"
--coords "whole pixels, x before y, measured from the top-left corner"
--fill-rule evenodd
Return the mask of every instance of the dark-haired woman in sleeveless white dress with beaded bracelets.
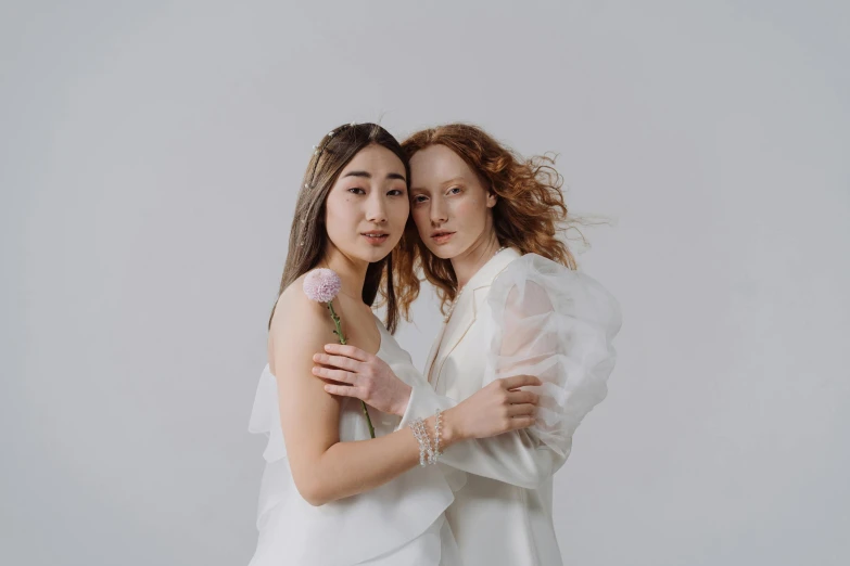
M 334 338 L 335 325 L 303 282 L 323 268 L 339 276 L 332 305 L 350 343 L 399 377 L 383 393 L 406 399 L 424 385 L 371 310 L 381 292 L 395 327 L 390 253 L 408 220 L 409 178 L 398 142 L 373 124 L 335 128 L 307 167 L 251 415 L 251 430 L 268 435 L 252 566 L 458 564 L 444 517 L 452 487 L 429 464 L 458 442 L 533 423 L 534 396 L 518 387 L 540 384 L 535 377 L 500 380 L 403 426 L 392 413 L 404 406 L 370 409 L 367 420 L 359 401 L 329 394 L 314 377 L 313 353 Z

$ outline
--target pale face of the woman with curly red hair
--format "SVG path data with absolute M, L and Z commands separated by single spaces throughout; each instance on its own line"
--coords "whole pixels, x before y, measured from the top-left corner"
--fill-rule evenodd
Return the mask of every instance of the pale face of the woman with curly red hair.
M 414 221 L 432 254 L 452 259 L 490 237 L 496 196 L 458 154 L 445 145 L 418 151 L 410 178 Z

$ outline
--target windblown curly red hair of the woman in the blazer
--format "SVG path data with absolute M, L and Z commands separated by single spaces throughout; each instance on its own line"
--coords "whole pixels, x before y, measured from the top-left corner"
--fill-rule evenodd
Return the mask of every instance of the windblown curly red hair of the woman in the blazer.
M 523 159 L 481 128 L 449 124 L 418 131 L 402 143 L 408 157 L 431 145 L 444 145 L 459 155 L 498 200 L 493 207 L 493 226 L 503 246 L 522 254 L 538 254 L 570 269 L 575 258 L 558 233 L 570 228 L 570 216 L 561 192 L 562 178 L 555 159 L 547 155 Z M 408 318 L 410 304 L 419 296 L 421 269 L 436 287 L 442 309 L 457 294 L 457 279 L 448 259 L 433 255 L 419 237 L 413 219 L 401 244 L 393 252 L 396 267 L 396 297 Z

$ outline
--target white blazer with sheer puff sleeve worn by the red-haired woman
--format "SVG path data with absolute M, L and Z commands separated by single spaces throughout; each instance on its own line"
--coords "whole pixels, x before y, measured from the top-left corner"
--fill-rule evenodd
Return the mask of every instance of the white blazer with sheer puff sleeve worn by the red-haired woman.
M 541 395 L 533 427 L 456 443 L 441 459 L 458 489 L 446 517 L 465 566 L 562 564 L 553 474 L 581 420 L 605 398 L 620 323 L 601 285 L 535 254 L 505 249 L 467 284 L 428 357 L 431 387 L 414 387 L 398 426 L 499 377 L 531 374 L 544 385 L 529 388 Z

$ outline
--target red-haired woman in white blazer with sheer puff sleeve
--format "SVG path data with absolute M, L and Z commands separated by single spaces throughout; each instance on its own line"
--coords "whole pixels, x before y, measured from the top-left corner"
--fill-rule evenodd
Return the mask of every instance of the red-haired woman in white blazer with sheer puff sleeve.
M 393 252 L 396 296 L 406 309 L 421 269 L 442 299 L 445 323 L 426 364 L 430 387 L 395 387 L 405 398 L 392 403 L 406 407 L 404 426 L 497 378 L 542 380 L 506 394 L 534 394 L 535 425 L 453 445 L 440 460 L 444 469 L 468 473 L 446 511 L 466 566 L 561 564 L 553 474 L 581 420 L 606 396 L 619 306 L 575 270 L 558 237 L 568 210 L 549 159 L 523 160 L 462 124 L 419 131 L 403 146 L 413 224 Z M 318 372 L 344 382 L 327 386 L 331 393 L 381 404 L 372 391 L 397 384 L 385 363 L 356 348 L 328 345 L 326 352 L 316 359 L 344 370 Z M 506 420 L 513 417 L 510 407 Z

